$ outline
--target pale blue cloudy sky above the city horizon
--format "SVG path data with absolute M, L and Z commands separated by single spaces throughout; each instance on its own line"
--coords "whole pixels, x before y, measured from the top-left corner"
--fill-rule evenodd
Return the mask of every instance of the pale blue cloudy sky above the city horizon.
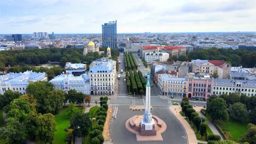
M 256 0 L 0 0 L 0 33 L 255 32 Z

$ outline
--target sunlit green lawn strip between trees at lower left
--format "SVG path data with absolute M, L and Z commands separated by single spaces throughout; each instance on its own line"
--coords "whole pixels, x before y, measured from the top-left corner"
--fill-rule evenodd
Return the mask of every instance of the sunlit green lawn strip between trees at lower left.
M 78 110 L 82 110 L 82 107 L 78 107 Z M 66 144 L 64 141 L 66 137 L 65 129 L 69 126 L 69 111 L 68 108 L 63 108 L 62 111 L 55 115 L 56 129 L 53 144 Z

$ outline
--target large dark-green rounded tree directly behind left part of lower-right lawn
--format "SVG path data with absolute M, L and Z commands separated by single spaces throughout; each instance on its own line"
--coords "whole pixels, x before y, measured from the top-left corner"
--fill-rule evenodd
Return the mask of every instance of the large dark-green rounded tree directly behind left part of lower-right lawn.
M 223 98 L 215 98 L 208 105 L 206 112 L 213 121 L 215 120 L 224 120 L 229 119 L 229 115 L 226 110 L 226 102 Z

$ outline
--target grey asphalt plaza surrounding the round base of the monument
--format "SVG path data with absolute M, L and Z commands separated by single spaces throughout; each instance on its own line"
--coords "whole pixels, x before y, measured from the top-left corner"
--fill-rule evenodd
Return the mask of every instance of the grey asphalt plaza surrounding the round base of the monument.
M 144 111 L 130 111 L 128 106 L 118 106 L 117 119 L 111 122 L 111 135 L 114 144 L 137 144 L 135 134 L 127 131 L 125 121 L 134 115 L 143 115 Z M 181 123 L 167 106 L 153 106 L 152 115 L 161 118 L 167 129 L 160 142 L 139 142 L 139 144 L 187 144 L 187 135 Z

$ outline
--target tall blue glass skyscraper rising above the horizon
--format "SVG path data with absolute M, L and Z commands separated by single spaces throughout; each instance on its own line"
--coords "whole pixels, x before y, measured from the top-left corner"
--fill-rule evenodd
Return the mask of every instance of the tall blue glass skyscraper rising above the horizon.
M 117 49 L 116 20 L 102 25 L 102 46 Z

